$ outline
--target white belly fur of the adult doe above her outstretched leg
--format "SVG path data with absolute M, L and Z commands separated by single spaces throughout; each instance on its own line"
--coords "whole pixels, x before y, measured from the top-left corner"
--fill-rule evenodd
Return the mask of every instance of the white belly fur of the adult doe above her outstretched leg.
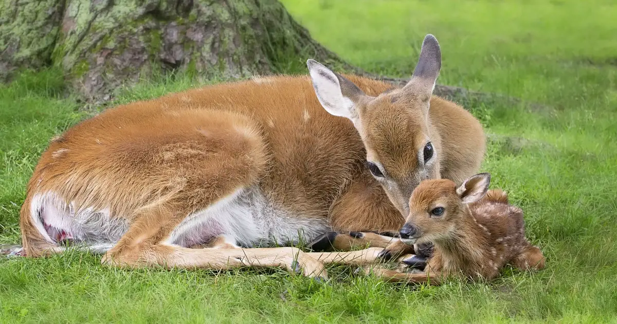
M 287 245 L 309 241 L 328 230 L 326 218 L 293 215 L 268 204 L 259 188 L 242 188 L 188 215 L 165 243 L 190 247 L 225 236 L 242 247 Z

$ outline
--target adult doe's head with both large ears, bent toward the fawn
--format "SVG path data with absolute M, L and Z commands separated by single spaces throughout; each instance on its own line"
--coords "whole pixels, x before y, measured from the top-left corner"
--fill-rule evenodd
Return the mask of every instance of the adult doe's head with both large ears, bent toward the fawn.
M 373 97 L 354 83 L 308 60 L 313 88 L 330 114 L 349 118 L 366 148 L 366 167 L 402 215 L 420 181 L 439 178 L 439 147 L 431 143 L 428 110 L 441 69 L 441 50 L 426 35 L 411 80 Z

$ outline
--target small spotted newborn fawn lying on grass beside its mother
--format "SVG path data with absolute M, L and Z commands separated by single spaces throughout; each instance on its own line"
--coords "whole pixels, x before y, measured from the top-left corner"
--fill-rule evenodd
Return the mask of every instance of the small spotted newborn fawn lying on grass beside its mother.
M 503 191 L 488 191 L 490 181 L 489 173 L 480 173 L 458 188 L 445 179 L 420 183 L 400 238 L 410 245 L 432 242 L 433 255 L 423 273 L 376 272 L 392 281 L 438 283 L 444 275 L 490 280 L 506 264 L 521 270 L 544 268 L 544 255 L 525 238 L 523 211 L 508 204 Z M 403 262 L 422 261 L 415 256 Z

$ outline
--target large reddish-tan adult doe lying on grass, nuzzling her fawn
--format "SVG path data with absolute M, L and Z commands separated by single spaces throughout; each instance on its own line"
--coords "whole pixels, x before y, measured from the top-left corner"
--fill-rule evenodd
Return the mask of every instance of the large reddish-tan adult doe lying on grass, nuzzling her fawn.
M 108 109 L 52 139 L 20 214 L 25 254 L 61 252 L 68 240 L 123 267 L 323 276 L 299 249 L 242 247 L 396 231 L 421 180 L 477 172 L 481 125 L 432 96 L 434 36 L 402 88 L 307 66 L 310 78 L 253 78 Z

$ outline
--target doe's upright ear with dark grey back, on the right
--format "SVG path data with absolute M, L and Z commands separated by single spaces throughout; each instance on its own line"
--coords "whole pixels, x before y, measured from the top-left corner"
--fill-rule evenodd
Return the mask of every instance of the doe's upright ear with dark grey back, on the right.
M 441 70 L 441 49 L 435 36 L 428 34 L 422 42 L 420 57 L 416 69 L 413 70 L 412 79 L 403 89 L 423 94 L 427 100 L 431 98 L 435 82 Z

